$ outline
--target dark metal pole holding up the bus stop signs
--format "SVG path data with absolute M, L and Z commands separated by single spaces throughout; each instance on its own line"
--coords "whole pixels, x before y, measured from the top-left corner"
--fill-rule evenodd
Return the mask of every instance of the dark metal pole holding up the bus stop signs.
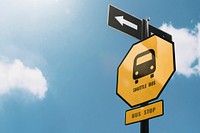
M 146 39 L 147 37 L 149 37 L 149 21 L 150 21 L 150 18 L 147 18 L 147 20 L 142 21 L 142 37 L 141 37 L 142 39 Z M 146 106 L 148 104 L 149 103 L 146 102 L 142 106 Z M 141 121 L 140 133 L 149 133 L 149 120 L 148 119 Z

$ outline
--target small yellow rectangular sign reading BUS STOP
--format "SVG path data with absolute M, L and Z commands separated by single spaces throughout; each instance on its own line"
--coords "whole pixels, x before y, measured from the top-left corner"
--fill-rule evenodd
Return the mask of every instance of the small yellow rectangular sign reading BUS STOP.
M 126 120 L 125 124 L 133 124 L 140 122 L 142 120 L 147 120 L 150 118 L 155 118 L 162 116 L 164 114 L 164 105 L 163 100 L 149 104 L 145 107 L 140 107 L 137 109 L 131 109 L 126 111 Z

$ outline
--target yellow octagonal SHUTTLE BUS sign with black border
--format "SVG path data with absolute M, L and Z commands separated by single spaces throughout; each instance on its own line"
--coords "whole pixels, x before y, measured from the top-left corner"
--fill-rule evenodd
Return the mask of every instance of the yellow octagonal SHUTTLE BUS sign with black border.
M 130 106 L 156 99 L 174 72 L 173 42 L 151 36 L 134 44 L 119 65 L 117 94 Z

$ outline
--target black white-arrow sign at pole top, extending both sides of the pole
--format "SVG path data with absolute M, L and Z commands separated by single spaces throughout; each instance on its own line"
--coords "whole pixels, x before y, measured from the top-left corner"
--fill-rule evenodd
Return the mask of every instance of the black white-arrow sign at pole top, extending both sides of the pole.
M 118 29 L 132 37 L 139 40 L 144 39 L 143 34 L 145 31 L 144 22 L 128 13 L 109 5 L 108 25 Z M 149 25 L 149 35 L 157 35 L 167 41 L 172 41 L 172 36 L 152 25 Z

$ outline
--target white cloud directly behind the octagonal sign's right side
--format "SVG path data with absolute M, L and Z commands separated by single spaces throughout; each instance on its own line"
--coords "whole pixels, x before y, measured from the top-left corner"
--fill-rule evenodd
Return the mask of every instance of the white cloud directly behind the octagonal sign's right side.
M 171 34 L 175 43 L 177 73 L 186 77 L 200 76 L 200 23 L 193 30 L 176 29 L 172 24 L 163 24 L 160 29 Z

